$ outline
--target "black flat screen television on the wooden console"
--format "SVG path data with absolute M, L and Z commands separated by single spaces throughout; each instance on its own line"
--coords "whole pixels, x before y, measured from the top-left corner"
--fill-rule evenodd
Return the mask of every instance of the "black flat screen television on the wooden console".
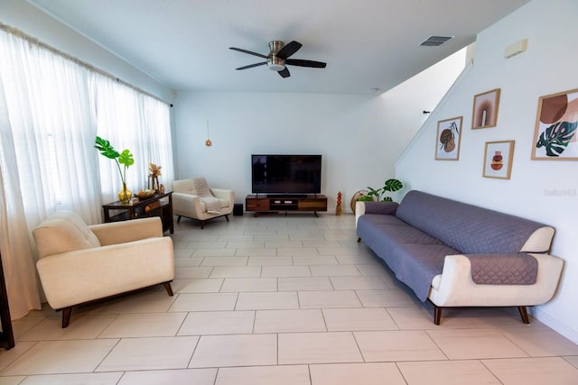
M 251 155 L 251 188 L 253 194 L 319 194 L 322 156 Z

